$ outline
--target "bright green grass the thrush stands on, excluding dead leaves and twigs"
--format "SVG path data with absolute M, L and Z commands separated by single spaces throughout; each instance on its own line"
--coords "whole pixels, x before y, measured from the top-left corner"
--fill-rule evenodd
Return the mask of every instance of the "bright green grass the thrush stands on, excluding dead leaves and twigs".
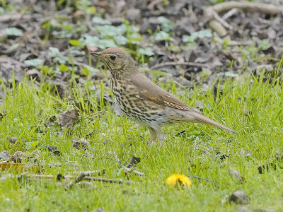
M 241 82 L 226 80 L 218 86 L 223 93 L 216 96 L 212 90 L 201 93 L 200 88 L 178 95 L 180 89 L 167 83 L 163 88 L 170 87 L 171 93 L 187 105 L 193 106 L 195 100 L 201 100 L 204 115 L 238 133 L 204 124 L 175 124 L 163 128 L 166 139 L 161 151 L 158 151 L 158 143 L 151 146 L 146 141 L 150 136 L 144 126 L 135 127 L 131 120 L 113 114 L 109 105 L 101 101 L 98 104 L 89 81 L 84 88 L 75 83 L 70 85 L 71 97 L 82 103 L 89 100 L 91 106 L 83 106 L 81 119 L 69 130 L 56 124 L 44 126 L 53 115 L 74 107 L 68 98 L 62 100 L 55 95 L 47 84 L 35 86 L 23 81 L 13 91 L 7 89 L 0 106 L 0 112 L 6 114 L 0 124 L 0 151 L 6 149 L 10 154 L 23 151 L 32 155 L 35 149 L 40 149 L 40 164 L 45 165 L 45 175 L 72 175 L 73 172 L 79 175 L 79 171 L 105 169 L 105 178 L 137 183 L 93 182 L 93 188 L 76 185 L 68 189 L 62 182 L 56 182 L 55 177 L 51 180 L 7 178 L 0 182 L 1 211 L 93 211 L 99 207 L 105 211 L 235 211 L 238 205 L 230 204 L 228 199 L 237 189 L 245 189 L 250 196 L 250 210 L 282 211 L 282 170 L 277 168 L 262 175 L 258 172 L 259 165 L 277 163 L 274 155 L 283 151 L 282 85 L 279 79 L 266 83 L 263 76 L 262 73 L 262 77 Z M 109 91 L 103 90 L 103 93 Z M 98 110 L 101 107 L 103 110 Z M 251 114 L 246 116 L 245 110 Z M 46 133 L 37 132 L 37 126 Z M 185 134 L 176 136 L 183 129 L 186 129 Z M 92 131 L 88 153 L 93 154 L 94 160 L 83 156 L 86 152 L 76 150 L 71 143 L 72 139 L 84 138 Z M 6 139 L 11 136 L 27 141 L 11 145 Z M 48 152 L 48 145 L 58 146 L 62 156 Z M 250 157 L 240 154 L 246 150 L 251 151 Z M 109 151 L 117 153 L 122 165 Z M 219 151 L 229 158 L 220 160 Z M 125 176 L 122 167 L 129 163 L 132 155 L 141 158 L 137 170 L 143 172 L 144 177 Z M 76 168 L 71 165 L 74 161 Z M 49 167 L 50 163 L 62 163 L 62 166 Z M 241 172 L 245 181 L 241 183 L 231 177 L 229 167 Z M 0 175 L 3 177 L 9 172 L 11 170 Z M 173 173 L 197 175 L 219 183 L 192 178 L 190 189 L 171 188 L 165 181 Z

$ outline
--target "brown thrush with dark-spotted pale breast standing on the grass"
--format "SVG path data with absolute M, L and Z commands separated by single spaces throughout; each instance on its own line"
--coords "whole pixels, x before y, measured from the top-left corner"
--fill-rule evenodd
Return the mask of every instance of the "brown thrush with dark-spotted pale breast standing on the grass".
M 110 70 L 110 86 L 115 107 L 122 114 L 149 128 L 151 143 L 159 141 L 159 150 L 164 139 L 161 127 L 180 122 L 211 124 L 235 133 L 223 124 L 219 124 L 194 107 L 157 86 L 137 69 L 134 59 L 122 48 L 110 47 L 102 52 L 89 54 L 103 59 Z

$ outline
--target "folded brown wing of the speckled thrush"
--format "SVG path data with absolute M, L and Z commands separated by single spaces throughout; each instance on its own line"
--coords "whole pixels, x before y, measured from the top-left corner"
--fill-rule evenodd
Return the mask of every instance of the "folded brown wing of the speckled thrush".
M 133 76 L 130 83 L 139 89 L 138 98 L 140 99 L 150 100 L 152 102 L 156 102 L 158 105 L 165 105 L 201 114 L 197 109 L 187 106 L 174 95 L 171 95 L 171 93 L 168 93 L 166 90 L 163 90 L 163 88 L 160 88 L 155 83 L 151 82 L 149 78 L 144 76 L 142 73 L 137 73 L 137 75 Z

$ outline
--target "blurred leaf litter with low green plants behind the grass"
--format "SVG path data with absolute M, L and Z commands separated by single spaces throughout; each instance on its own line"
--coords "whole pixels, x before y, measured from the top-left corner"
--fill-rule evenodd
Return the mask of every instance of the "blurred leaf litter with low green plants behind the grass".
M 263 69 L 272 78 L 282 71 L 282 11 L 272 0 L 1 0 L 0 78 L 105 81 L 88 52 L 114 46 L 147 76 L 185 88 Z

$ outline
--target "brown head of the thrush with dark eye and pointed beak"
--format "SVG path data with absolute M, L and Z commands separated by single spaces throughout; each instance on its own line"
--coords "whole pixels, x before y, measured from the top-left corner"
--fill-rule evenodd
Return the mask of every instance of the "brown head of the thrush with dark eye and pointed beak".
M 128 67 L 134 65 L 129 53 L 117 47 L 108 48 L 102 52 L 90 52 L 89 54 L 103 59 L 112 73 L 127 71 Z

